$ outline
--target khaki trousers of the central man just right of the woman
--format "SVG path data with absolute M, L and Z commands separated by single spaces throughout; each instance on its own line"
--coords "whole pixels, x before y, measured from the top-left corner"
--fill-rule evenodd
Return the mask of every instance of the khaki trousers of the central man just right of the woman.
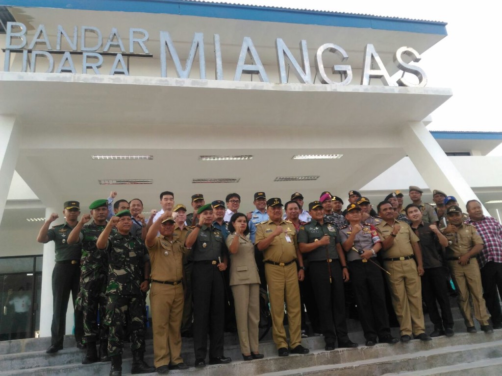
M 277 348 L 288 347 L 284 329 L 284 302 L 288 311 L 290 346 L 301 344 L 300 288 L 296 263 L 287 266 L 265 264 L 265 277 L 269 286 L 272 337 Z

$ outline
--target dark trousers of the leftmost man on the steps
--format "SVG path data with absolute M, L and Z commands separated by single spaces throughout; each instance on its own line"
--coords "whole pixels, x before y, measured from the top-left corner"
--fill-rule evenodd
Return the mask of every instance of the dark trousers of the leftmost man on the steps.
M 63 346 L 64 334 L 66 332 L 66 310 L 68 300 L 71 298 L 73 308 L 78 294 L 80 280 L 80 264 L 56 263 L 52 271 L 52 325 L 51 344 Z M 75 340 L 82 341 L 84 335 L 83 313 L 75 310 Z

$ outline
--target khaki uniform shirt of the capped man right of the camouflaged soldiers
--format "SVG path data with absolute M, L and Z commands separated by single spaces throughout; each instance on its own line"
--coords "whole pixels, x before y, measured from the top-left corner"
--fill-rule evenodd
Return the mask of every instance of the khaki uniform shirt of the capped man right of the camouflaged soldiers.
M 180 241 L 173 240 L 171 243 L 166 237 L 158 236 L 155 238 L 155 244 L 147 248 L 152 263 L 152 271 L 150 272 L 152 279 L 161 282 L 177 282 L 183 278 L 183 253 L 185 250 Z

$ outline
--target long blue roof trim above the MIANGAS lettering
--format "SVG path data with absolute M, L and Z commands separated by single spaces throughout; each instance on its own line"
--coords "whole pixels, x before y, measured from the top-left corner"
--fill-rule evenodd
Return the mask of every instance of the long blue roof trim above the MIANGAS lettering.
M 14 0 L 3 3 L 12 7 L 171 14 L 447 35 L 444 22 L 190 0 Z

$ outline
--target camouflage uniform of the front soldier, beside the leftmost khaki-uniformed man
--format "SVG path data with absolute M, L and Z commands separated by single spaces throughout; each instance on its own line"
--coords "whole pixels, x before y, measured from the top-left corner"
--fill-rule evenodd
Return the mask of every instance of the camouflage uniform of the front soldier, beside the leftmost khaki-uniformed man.
M 106 325 L 109 327 L 108 354 L 122 353 L 123 326 L 129 311 L 131 349 L 145 349 L 143 296 L 140 284 L 144 280 L 146 249 L 144 243 L 132 236 L 111 234 L 106 248 L 108 255 L 108 284 L 106 286 Z

